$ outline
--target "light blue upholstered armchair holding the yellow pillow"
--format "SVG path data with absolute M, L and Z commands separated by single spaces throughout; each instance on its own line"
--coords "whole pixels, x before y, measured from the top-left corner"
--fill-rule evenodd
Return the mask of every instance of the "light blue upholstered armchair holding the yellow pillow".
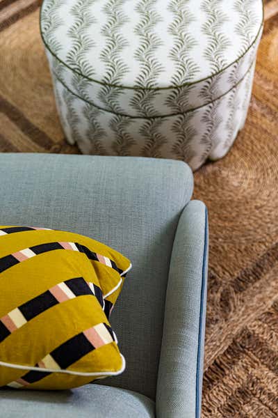
M 3 418 L 199 418 L 206 208 L 183 162 L 0 154 L 0 223 L 88 235 L 133 263 L 111 323 L 121 376 L 64 392 L 2 389 Z

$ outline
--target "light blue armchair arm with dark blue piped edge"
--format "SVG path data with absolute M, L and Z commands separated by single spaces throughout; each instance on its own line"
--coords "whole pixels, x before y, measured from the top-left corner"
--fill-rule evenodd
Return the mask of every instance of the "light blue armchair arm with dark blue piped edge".
M 172 249 L 156 389 L 157 418 L 201 415 L 207 264 L 206 206 L 190 201 L 181 213 Z

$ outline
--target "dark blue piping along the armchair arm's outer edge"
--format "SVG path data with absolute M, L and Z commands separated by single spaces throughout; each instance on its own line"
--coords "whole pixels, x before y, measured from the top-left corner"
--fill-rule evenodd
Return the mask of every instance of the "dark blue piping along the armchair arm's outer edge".
M 197 353 L 197 369 L 196 369 L 196 410 L 195 417 L 199 418 L 199 380 L 200 380 L 200 362 L 201 362 L 201 343 L 202 343 L 202 334 L 203 334 L 203 313 L 204 313 L 204 291 L 206 288 L 206 258 L 207 258 L 207 245 L 208 245 L 208 210 L 206 209 L 205 213 L 205 228 L 204 228 L 204 256 L 203 256 L 203 266 L 202 266 L 202 287 L 201 287 L 201 300 L 200 300 L 200 310 L 199 310 L 199 335 L 198 335 L 198 353 Z

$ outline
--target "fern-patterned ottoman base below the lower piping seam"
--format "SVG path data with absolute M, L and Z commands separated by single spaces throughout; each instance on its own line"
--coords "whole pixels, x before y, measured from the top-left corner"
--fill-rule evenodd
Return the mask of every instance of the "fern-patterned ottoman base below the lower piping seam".
M 67 141 L 76 143 L 84 154 L 174 158 L 196 170 L 207 158 L 224 157 L 243 128 L 254 68 L 255 63 L 222 97 L 175 116 L 113 114 L 85 102 L 54 77 L 56 104 Z

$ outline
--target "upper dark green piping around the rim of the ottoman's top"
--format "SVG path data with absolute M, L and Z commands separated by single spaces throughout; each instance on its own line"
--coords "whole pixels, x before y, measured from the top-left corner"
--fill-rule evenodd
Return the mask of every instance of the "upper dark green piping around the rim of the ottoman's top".
M 218 72 L 215 72 L 213 75 L 209 75 L 208 77 L 204 77 L 203 79 L 199 79 L 196 82 L 188 82 L 188 83 L 181 84 L 179 86 L 144 87 L 144 88 L 142 88 L 142 87 L 137 87 L 137 86 L 123 86 L 121 84 L 105 83 L 105 82 L 101 82 L 100 80 L 92 79 L 90 77 L 87 77 L 87 76 L 81 74 L 81 72 L 74 70 L 73 68 L 70 67 L 70 65 L 68 65 L 67 63 L 65 63 L 64 61 L 62 61 L 60 58 L 58 58 L 58 56 L 56 54 L 54 54 L 54 52 L 51 51 L 51 49 L 49 48 L 49 45 L 47 45 L 47 42 L 44 40 L 43 33 L 42 33 L 42 8 L 43 8 L 43 5 L 44 5 L 44 1 L 45 0 L 42 1 L 42 6 L 40 7 L 40 36 L 42 38 L 42 42 L 44 43 L 44 46 L 49 50 L 49 52 L 51 53 L 51 55 L 54 56 L 60 63 L 62 63 L 63 65 L 65 65 L 65 67 L 69 68 L 69 70 L 71 70 L 72 72 L 75 72 L 78 75 L 81 75 L 83 78 L 88 79 L 90 82 L 94 82 L 96 84 L 101 84 L 102 86 L 110 86 L 110 87 L 124 88 L 124 89 L 126 88 L 126 89 L 129 89 L 129 90 L 152 90 L 152 91 L 176 90 L 177 88 L 181 88 L 181 87 L 185 87 L 185 86 L 193 86 L 194 84 L 198 84 L 198 83 L 204 82 L 206 80 L 212 79 L 213 77 L 215 77 L 215 76 L 217 76 L 219 74 L 222 74 L 222 72 L 224 72 L 229 67 L 231 67 L 231 65 L 234 65 L 235 63 L 237 63 L 238 61 L 240 61 L 241 59 L 243 59 L 243 56 L 245 56 L 247 54 L 247 52 L 250 51 L 250 49 L 252 48 L 252 46 L 256 43 L 256 40 L 258 40 L 258 38 L 259 38 L 259 34 L 261 33 L 261 29 L 263 28 L 263 22 L 264 22 L 264 9 L 263 9 L 263 17 L 262 17 L 261 25 L 259 27 L 259 31 L 258 31 L 258 33 L 256 33 L 256 37 L 254 38 L 254 40 L 250 44 L 250 46 L 235 61 L 233 61 L 232 63 L 230 63 L 226 67 L 222 68 L 222 70 L 220 70 Z M 261 3 L 262 3 L 262 8 L 263 8 L 263 1 Z

